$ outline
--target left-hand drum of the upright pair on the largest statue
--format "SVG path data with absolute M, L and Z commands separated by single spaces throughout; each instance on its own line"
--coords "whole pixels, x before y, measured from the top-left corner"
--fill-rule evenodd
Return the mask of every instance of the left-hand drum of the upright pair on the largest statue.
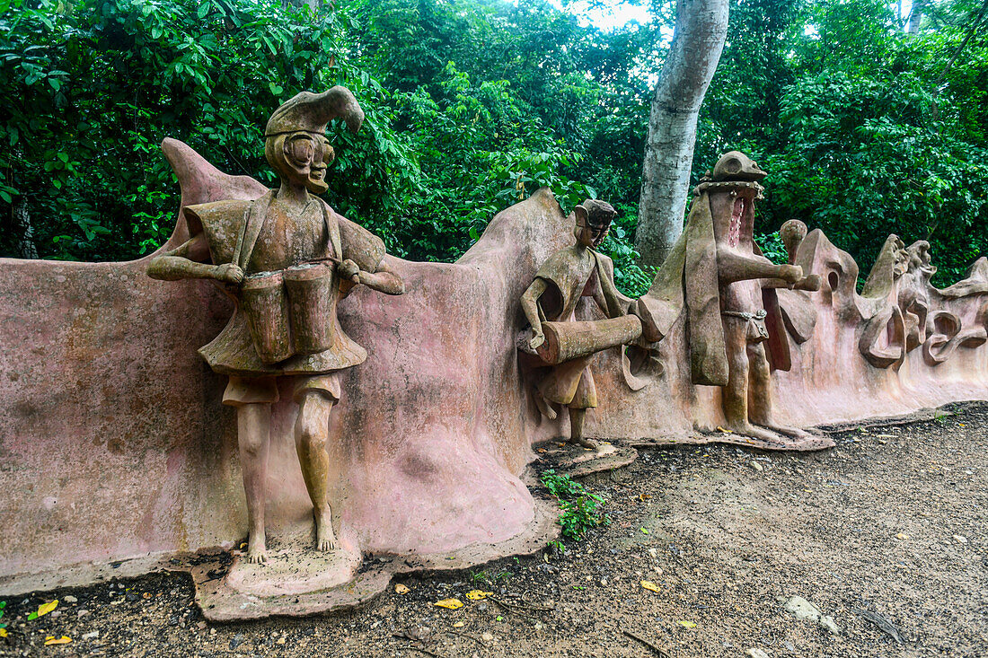
M 288 298 L 281 272 L 259 272 L 244 279 L 240 307 L 247 315 L 257 356 L 266 364 L 285 361 L 293 352 L 288 328 Z

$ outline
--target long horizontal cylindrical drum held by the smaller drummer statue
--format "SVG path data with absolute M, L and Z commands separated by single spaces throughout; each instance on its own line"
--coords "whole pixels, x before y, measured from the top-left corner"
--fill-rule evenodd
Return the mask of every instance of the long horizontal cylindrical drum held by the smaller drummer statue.
M 554 366 L 637 340 L 641 320 L 622 315 L 587 322 L 542 322 L 542 332 L 545 342 L 538 346 L 538 356 Z

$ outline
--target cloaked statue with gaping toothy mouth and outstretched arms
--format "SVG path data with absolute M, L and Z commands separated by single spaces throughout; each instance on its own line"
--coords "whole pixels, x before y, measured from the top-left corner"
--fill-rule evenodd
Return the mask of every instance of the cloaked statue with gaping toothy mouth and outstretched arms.
M 799 297 L 783 297 L 781 305 L 777 290 L 818 290 L 820 278 L 804 276 L 792 263 L 773 264 L 755 243 L 755 203 L 765 176 L 743 153 L 721 156 L 700 180 L 683 235 L 638 300 L 638 314 L 661 337 L 685 310 L 693 383 L 720 386 L 732 432 L 784 447 L 785 437 L 816 438 L 775 421 L 771 371 L 789 369 L 787 335 L 807 340 L 815 314 Z M 805 226 L 790 224 L 783 235 L 790 261 L 798 259 Z

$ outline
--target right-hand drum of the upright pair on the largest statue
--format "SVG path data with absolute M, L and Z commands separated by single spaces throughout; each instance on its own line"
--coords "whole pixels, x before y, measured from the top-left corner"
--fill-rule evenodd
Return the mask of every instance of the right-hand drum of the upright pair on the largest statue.
M 333 346 L 336 282 L 332 264 L 306 263 L 284 271 L 288 317 L 297 354 L 324 352 Z

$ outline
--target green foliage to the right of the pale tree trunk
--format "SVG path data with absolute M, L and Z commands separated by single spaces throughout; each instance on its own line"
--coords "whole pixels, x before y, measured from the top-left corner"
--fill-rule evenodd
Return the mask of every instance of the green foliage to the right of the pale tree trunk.
M 926 239 L 935 283 L 963 277 L 988 253 L 988 35 L 947 61 L 979 6 L 931 5 L 953 8 L 955 22 L 909 35 L 875 0 L 732 4 L 695 172 L 746 150 L 770 173 L 757 231 L 801 219 L 849 251 L 862 277 L 889 233 Z

